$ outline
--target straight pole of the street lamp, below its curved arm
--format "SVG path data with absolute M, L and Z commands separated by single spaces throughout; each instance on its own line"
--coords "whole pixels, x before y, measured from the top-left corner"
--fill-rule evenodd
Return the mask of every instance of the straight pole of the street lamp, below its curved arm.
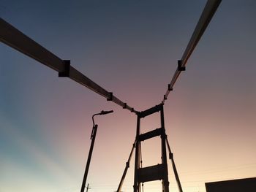
M 83 175 L 83 183 L 82 183 L 82 187 L 81 187 L 80 192 L 84 192 L 84 188 L 86 187 L 86 179 L 87 179 L 87 174 L 89 172 L 92 150 L 94 149 L 94 141 L 95 141 L 95 137 L 96 137 L 96 134 L 97 134 L 97 128 L 98 128 L 98 125 L 95 125 L 92 128 L 92 131 L 91 131 L 91 147 L 90 147 L 90 150 L 89 150 L 89 155 L 88 155 L 88 159 L 87 159 L 87 163 L 86 163 L 86 171 L 84 172 L 84 175 Z

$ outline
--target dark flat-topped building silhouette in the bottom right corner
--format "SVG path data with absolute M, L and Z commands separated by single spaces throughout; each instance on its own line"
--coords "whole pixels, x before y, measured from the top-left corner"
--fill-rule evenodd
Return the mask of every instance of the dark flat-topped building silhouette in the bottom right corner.
M 207 192 L 254 192 L 256 177 L 206 183 Z

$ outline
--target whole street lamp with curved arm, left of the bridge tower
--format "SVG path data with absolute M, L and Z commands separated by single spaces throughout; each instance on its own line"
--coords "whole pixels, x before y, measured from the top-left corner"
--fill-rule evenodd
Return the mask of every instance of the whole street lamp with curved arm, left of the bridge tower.
M 96 115 L 106 115 L 106 114 L 111 113 L 111 112 L 113 112 L 113 110 L 110 110 L 110 111 L 103 111 L 102 110 L 101 112 L 92 115 L 92 122 L 94 123 L 94 116 L 96 116 Z M 88 158 L 87 158 L 86 171 L 84 172 L 84 175 L 83 175 L 83 183 L 82 183 L 82 187 L 81 187 L 81 191 L 80 192 L 84 192 L 84 188 L 86 187 L 86 179 L 87 179 L 87 174 L 89 172 L 89 166 L 90 166 L 90 162 L 91 162 L 92 150 L 94 149 L 94 141 L 95 141 L 95 137 L 96 137 L 96 134 L 97 134 L 97 128 L 98 128 L 97 124 L 94 124 L 94 126 L 92 127 L 92 131 L 91 131 L 91 147 L 90 147 L 89 155 L 88 155 Z

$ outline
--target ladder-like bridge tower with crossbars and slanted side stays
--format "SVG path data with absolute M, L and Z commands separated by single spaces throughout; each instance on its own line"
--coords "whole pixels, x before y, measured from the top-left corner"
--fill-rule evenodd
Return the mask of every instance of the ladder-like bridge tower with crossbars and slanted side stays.
M 140 119 L 146 118 L 148 115 L 152 115 L 155 112 L 160 112 L 160 119 L 161 119 L 161 127 L 156 128 L 153 131 L 148 131 L 145 134 L 140 134 Z M 143 112 L 138 112 L 137 114 L 137 131 L 136 131 L 136 139 L 135 144 L 132 146 L 132 151 L 129 155 L 127 166 L 124 169 L 124 174 L 121 177 L 121 181 L 118 185 L 117 191 L 121 191 L 121 186 L 124 183 L 124 177 L 127 174 L 127 169 L 129 168 L 129 161 L 132 157 L 132 152 L 135 148 L 135 177 L 134 177 L 134 192 L 140 192 L 141 186 L 143 187 L 143 183 L 150 182 L 154 180 L 162 180 L 162 191 L 163 192 L 169 192 L 169 180 L 168 180 L 168 169 L 167 169 L 167 155 L 166 155 L 166 145 L 169 150 L 169 158 L 172 161 L 173 164 L 173 172 L 176 177 L 176 182 L 178 184 L 178 190 L 182 192 L 181 183 L 178 178 L 178 172 L 176 170 L 176 166 L 174 164 L 173 160 L 173 153 L 170 151 L 170 145 L 167 141 L 167 135 L 165 134 L 165 120 L 164 120 L 164 108 L 163 104 L 159 104 L 155 107 L 151 107 L 148 110 L 145 110 Z M 145 141 L 146 139 L 151 139 L 153 137 L 161 137 L 161 159 L 162 164 L 157 164 L 154 166 L 142 166 L 142 152 L 141 152 L 141 145 L 140 142 Z M 142 185 L 140 185 L 142 183 Z

